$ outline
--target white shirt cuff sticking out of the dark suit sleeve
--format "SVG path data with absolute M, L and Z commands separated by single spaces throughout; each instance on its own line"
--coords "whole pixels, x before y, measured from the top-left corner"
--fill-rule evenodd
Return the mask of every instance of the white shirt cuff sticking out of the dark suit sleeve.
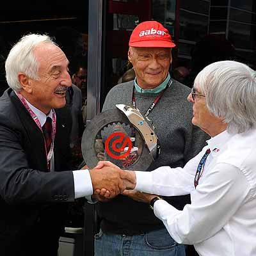
M 88 170 L 72 171 L 74 177 L 75 198 L 93 194 L 92 179 Z

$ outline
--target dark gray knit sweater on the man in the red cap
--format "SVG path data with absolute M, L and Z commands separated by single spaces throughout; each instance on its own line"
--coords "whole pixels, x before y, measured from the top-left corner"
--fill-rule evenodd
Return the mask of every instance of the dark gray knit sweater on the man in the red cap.
M 108 93 L 102 111 L 116 108 L 115 104 L 131 106 L 133 81 L 118 84 Z M 184 166 L 204 147 L 209 136 L 191 123 L 192 104 L 187 97 L 190 89 L 173 80 L 152 112 L 148 115 L 153 120 L 155 132 L 161 145 L 161 154 L 147 171 L 159 166 Z M 134 92 L 136 108 L 144 114 L 156 99 L 157 94 Z M 196 171 L 196 170 L 195 170 Z M 168 198 L 173 206 L 182 209 L 183 196 Z M 125 196 L 117 196 L 108 203 L 99 204 L 102 229 L 116 234 L 141 234 L 147 230 L 159 228 L 160 222 L 150 211 L 147 204 L 138 203 Z

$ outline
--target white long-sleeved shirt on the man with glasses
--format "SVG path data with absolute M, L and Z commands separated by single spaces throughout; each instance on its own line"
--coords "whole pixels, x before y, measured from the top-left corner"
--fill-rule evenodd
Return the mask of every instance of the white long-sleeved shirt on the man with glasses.
M 177 243 L 194 244 L 202 256 L 256 255 L 256 130 L 221 132 L 184 168 L 162 166 L 136 172 L 136 190 L 157 195 L 191 193 L 183 211 L 157 200 L 154 213 Z M 198 163 L 207 148 L 204 173 L 195 189 Z

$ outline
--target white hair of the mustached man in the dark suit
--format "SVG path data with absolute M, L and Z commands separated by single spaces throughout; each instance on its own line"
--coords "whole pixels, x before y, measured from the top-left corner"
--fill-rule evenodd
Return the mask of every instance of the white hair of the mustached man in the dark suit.
M 34 51 L 38 44 L 55 44 L 48 35 L 29 34 L 15 44 L 5 61 L 6 81 L 10 88 L 19 91 L 18 73 L 23 72 L 32 79 L 38 79 L 38 63 Z M 55 44 L 56 45 L 56 44 Z

